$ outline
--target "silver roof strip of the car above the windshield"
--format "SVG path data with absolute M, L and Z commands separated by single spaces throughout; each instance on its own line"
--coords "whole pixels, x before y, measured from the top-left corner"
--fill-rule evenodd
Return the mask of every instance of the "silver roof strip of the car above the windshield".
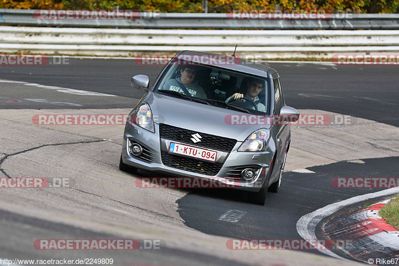
M 221 68 L 225 68 L 225 69 L 229 69 L 229 70 L 235 70 L 235 71 L 239 71 L 239 72 L 244 72 L 244 73 L 248 73 L 248 74 L 252 74 L 252 75 L 257 75 L 257 76 L 263 76 L 263 77 L 269 77 L 269 75 L 271 75 L 273 78 L 278 77 L 278 73 L 274 68 L 271 68 L 269 66 L 263 65 L 263 64 L 259 64 L 259 63 L 255 63 L 254 61 L 249 61 L 249 60 L 245 60 L 242 59 L 240 57 L 232 57 L 232 56 L 228 56 L 228 55 L 222 55 L 222 54 L 217 54 L 217 53 L 208 53 L 208 52 L 199 52 L 199 51 L 181 51 L 179 53 L 177 53 L 174 58 L 179 58 L 179 59 L 185 59 L 184 55 L 191 55 L 191 57 L 189 57 L 189 61 L 195 62 L 195 63 L 199 63 L 199 64 L 203 64 L 200 61 L 200 56 L 203 55 L 221 55 L 220 57 L 216 57 L 218 58 L 220 63 L 225 63 L 225 64 L 214 64 L 214 66 L 217 67 L 221 67 Z M 195 56 L 198 55 L 198 56 Z M 225 60 L 223 60 L 224 58 L 226 58 Z M 187 58 L 186 58 L 187 59 Z M 206 64 L 203 64 L 206 65 Z M 212 64 L 209 64 L 212 65 Z

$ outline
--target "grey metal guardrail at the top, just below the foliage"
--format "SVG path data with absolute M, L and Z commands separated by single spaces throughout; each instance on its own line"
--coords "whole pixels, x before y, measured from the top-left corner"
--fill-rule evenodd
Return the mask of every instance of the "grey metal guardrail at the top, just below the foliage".
M 330 19 L 229 19 L 225 13 L 146 13 L 137 19 L 36 19 L 35 10 L 0 9 L 0 24 L 185 29 L 399 29 L 399 14 L 332 14 Z

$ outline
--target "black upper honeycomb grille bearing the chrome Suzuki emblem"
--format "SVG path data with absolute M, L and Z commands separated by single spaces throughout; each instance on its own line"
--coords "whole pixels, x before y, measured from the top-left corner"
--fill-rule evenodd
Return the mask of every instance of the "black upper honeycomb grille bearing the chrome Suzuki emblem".
M 168 140 L 175 140 L 187 144 L 194 144 L 194 142 L 191 140 L 193 138 L 192 135 L 197 133 L 200 134 L 201 141 L 195 143 L 195 145 L 199 147 L 223 151 L 223 152 L 231 152 L 231 150 L 237 143 L 235 139 L 219 137 L 202 132 L 174 127 L 166 124 L 159 124 L 160 137 Z

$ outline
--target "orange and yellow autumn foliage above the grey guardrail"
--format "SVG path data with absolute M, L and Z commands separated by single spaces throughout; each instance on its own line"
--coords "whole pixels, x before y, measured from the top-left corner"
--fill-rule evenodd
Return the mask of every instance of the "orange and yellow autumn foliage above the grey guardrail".
M 354 13 L 398 13 L 399 0 L 208 0 L 208 12 L 231 9 L 324 9 Z M 201 0 L 0 0 L 0 8 L 18 9 L 113 9 L 141 11 L 203 12 Z

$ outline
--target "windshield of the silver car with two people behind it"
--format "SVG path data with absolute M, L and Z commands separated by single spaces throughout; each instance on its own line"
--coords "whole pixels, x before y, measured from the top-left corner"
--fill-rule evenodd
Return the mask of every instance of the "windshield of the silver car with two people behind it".
M 268 83 L 262 77 L 185 61 L 169 66 L 155 92 L 195 98 L 220 108 L 267 113 Z

